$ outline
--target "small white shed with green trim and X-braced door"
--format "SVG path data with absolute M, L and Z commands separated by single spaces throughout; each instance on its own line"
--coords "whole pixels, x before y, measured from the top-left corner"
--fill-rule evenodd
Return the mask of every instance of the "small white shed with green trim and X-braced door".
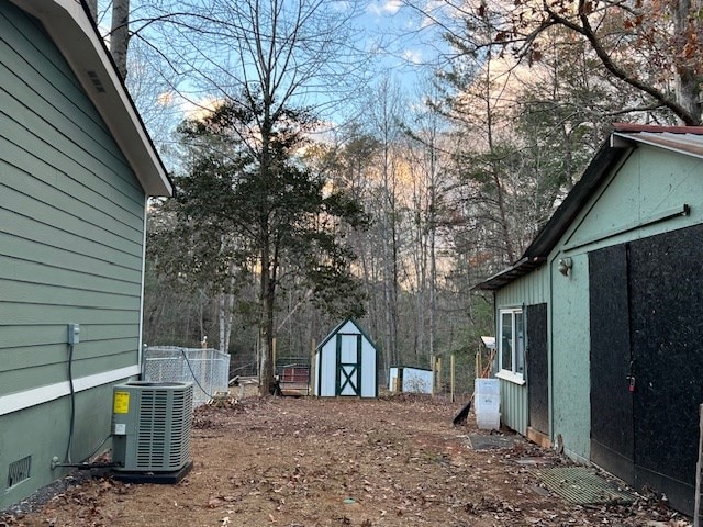
M 378 397 L 378 350 L 350 318 L 315 349 L 313 394 L 321 397 Z

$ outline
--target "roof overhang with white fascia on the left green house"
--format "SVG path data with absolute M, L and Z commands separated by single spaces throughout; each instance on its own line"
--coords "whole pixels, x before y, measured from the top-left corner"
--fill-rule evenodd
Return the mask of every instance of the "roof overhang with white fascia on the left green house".
M 171 195 L 166 168 L 81 0 L 11 0 L 56 43 L 147 195 Z

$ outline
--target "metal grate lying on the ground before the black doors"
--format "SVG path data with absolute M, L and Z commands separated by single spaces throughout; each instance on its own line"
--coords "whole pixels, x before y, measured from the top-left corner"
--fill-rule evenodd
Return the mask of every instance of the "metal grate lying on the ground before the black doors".
M 634 494 L 585 467 L 532 469 L 528 472 L 538 478 L 551 492 L 579 505 L 626 505 L 635 502 Z

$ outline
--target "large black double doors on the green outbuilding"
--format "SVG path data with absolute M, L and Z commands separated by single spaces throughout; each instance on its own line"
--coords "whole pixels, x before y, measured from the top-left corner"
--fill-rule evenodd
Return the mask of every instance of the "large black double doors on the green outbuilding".
M 703 403 L 703 226 L 591 253 L 589 269 L 591 457 L 691 513 Z

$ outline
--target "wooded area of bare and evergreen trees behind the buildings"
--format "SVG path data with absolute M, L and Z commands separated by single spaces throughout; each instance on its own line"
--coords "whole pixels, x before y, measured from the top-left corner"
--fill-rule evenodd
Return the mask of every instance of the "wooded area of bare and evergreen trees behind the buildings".
M 274 346 L 355 316 L 383 372 L 454 354 L 468 381 L 494 332 L 471 287 L 611 123 L 701 123 L 699 3 L 408 0 L 443 38 L 410 92 L 357 42 L 360 2 L 99 2 L 178 189 L 149 213 L 145 343 L 207 339 L 267 389 Z

